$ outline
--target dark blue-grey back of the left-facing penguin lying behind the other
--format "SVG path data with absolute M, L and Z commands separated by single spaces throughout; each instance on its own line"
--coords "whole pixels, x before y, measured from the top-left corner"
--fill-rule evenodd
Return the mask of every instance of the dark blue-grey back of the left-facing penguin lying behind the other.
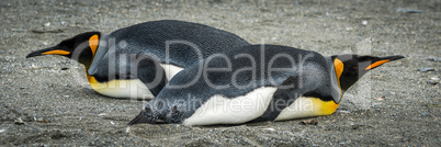
M 118 53 L 152 55 L 160 63 L 169 61 L 179 67 L 190 66 L 213 53 L 250 45 L 233 33 L 176 20 L 152 21 L 124 27 L 111 33 L 109 39 L 115 41 Z M 169 60 L 166 60 L 166 57 L 169 57 Z

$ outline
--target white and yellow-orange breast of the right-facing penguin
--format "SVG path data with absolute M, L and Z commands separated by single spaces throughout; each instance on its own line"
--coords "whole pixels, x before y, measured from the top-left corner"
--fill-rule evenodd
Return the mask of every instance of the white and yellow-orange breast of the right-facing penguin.
M 318 98 L 299 97 L 290 106 L 282 110 L 274 121 L 329 115 L 338 108 L 333 101 L 323 101 Z

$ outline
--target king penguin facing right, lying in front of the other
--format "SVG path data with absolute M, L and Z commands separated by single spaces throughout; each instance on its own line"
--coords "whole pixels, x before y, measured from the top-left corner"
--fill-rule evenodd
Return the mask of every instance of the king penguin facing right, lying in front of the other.
M 329 115 L 364 74 L 400 58 L 324 57 L 286 46 L 245 46 L 214 54 L 176 75 L 128 125 L 242 124 Z

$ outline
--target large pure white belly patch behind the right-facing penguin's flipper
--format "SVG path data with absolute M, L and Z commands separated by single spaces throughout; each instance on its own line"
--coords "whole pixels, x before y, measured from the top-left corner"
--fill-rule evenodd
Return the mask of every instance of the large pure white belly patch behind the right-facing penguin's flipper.
M 184 125 L 241 124 L 262 115 L 276 88 L 258 88 L 237 98 L 214 95 L 184 120 Z

